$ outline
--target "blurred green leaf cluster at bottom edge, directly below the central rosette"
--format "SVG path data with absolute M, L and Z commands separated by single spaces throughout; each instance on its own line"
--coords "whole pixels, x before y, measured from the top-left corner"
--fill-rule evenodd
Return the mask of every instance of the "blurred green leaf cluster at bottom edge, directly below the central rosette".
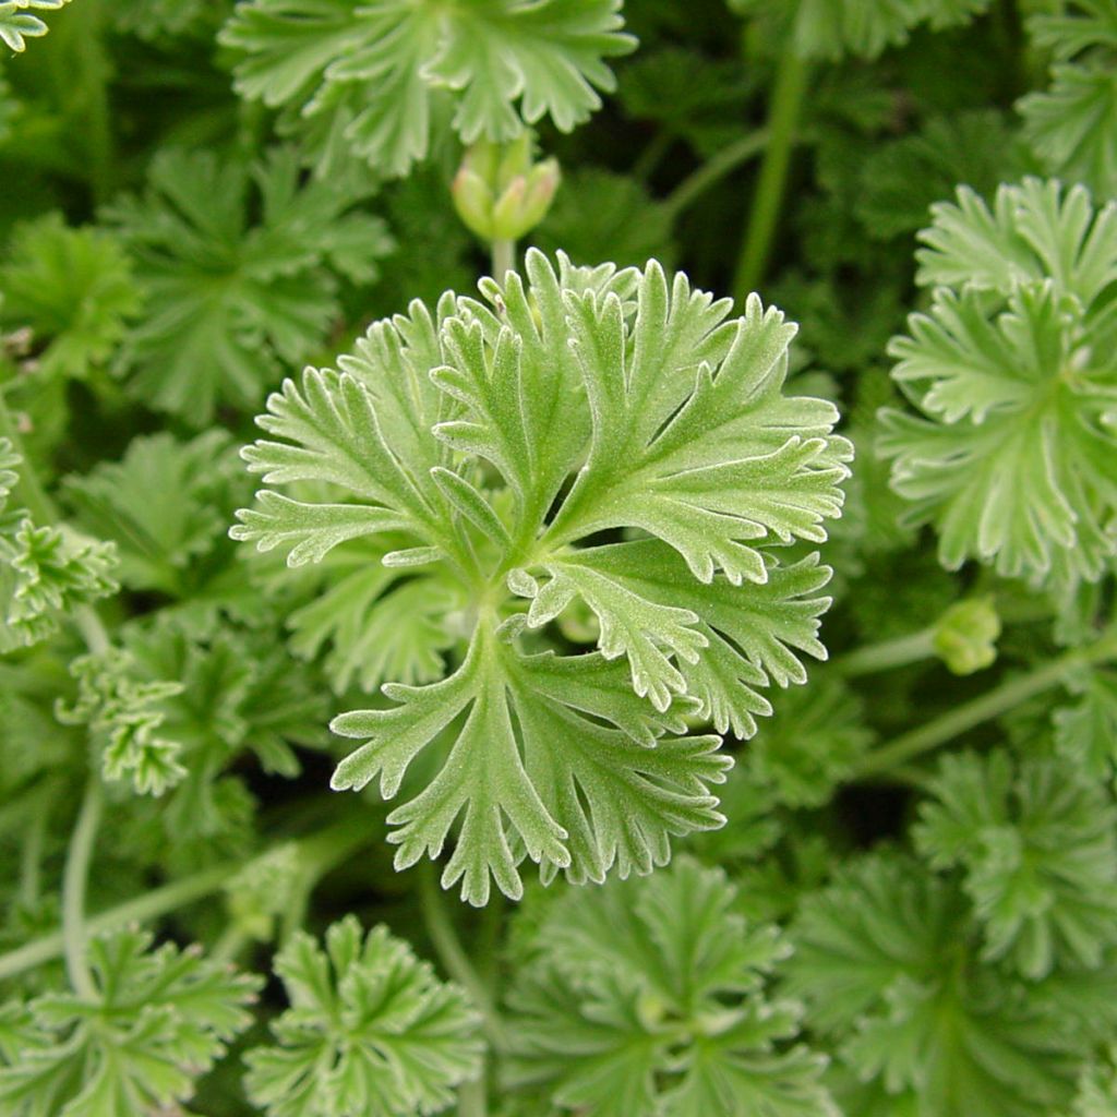
M 734 900 L 720 870 L 681 860 L 554 904 L 509 997 L 509 1085 L 586 1117 L 837 1115 L 824 1060 L 787 1047 L 799 1006 L 763 991 L 785 944 Z

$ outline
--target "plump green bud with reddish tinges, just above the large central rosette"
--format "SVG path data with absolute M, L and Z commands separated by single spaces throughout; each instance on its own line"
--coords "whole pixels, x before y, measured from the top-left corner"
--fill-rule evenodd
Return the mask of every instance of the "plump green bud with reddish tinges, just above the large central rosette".
M 523 132 L 507 144 L 470 145 L 451 194 L 462 223 L 483 240 L 519 240 L 551 209 L 560 179 L 556 160 L 532 162 L 532 139 Z

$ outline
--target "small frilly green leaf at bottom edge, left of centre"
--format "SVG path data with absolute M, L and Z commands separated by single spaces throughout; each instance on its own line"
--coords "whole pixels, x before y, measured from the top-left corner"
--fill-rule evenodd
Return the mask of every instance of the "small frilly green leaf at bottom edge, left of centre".
M 276 957 L 290 1009 L 276 1046 L 247 1056 L 246 1088 L 268 1117 L 409 1117 L 436 1113 L 480 1072 L 478 1018 L 464 993 L 383 925 L 355 916 L 325 951 L 297 932 Z

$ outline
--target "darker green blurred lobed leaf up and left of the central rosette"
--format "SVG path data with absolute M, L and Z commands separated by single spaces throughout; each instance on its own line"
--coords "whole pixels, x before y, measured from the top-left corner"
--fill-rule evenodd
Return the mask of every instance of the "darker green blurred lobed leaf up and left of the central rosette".
M 256 168 L 161 152 L 144 197 L 106 214 L 147 300 L 121 359 L 131 390 L 194 427 L 219 404 L 256 405 L 280 362 L 300 362 L 325 340 L 341 314 L 338 276 L 373 279 L 391 247 L 354 201 L 331 183 L 300 187 L 290 150 Z M 363 246 L 356 273 L 353 244 Z

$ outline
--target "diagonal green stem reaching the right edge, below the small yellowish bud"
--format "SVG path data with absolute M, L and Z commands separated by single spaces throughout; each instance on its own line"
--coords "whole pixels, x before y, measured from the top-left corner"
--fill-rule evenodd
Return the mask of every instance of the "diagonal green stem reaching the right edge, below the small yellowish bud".
M 1110 632 L 1088 648 L 1076 648 L 1043 667 L 1010 679 L 987 694 L 963 703 L 926 725 L 901 734 L 880 748 L 875 748 L 857 766 L 855 780 L 890 772 L 932 750 L 938 748 L 975 726 L 1000 717 L 1021 703 L 1052 690 L 1062 684 L 1067 672 L 1076 667 L 1117 659 L 1117 634 Z

